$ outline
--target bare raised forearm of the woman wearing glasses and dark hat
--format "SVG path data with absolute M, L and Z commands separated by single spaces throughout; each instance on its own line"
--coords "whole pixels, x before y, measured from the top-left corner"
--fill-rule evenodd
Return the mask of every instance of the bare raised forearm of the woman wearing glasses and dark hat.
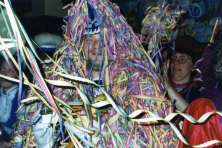
M 165 90 L 168 93 L 168 96 L 171 100 L 175 99 L 176 109 L 179 111 L 184 111 L 185 108 L 188 106 L 186 100 L 172 87 L 168 78 L 168 69 L 169 69 L 169 60 L 164 63 L 163 66 L 163 76 L 162 76 L 162 83 Z

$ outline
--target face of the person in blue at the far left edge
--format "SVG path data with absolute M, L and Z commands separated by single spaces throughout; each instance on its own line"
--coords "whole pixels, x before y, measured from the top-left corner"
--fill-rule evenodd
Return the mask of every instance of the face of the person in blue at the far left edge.
M 11 78 L 18 78 L 17 76 L 17 73 L 14 72 L 10 67 L 9 65 L 7 64 L 6 61 L 4 61 L 2 64 L 1 64 L 1 67 L 0 67 L 0 74 L 2 75 L 5 75 L 5 76 L 8 76 L 8 77 L 11 77 Z M 16 83 L 12 82 L 12 81 L 9 81 L 9 80 L 6 80 L 4 78 L 0 78 L 0 85 L 1 87 L 3 87 L 4 89 L 10 89 L 11 87 L 15 86 Z

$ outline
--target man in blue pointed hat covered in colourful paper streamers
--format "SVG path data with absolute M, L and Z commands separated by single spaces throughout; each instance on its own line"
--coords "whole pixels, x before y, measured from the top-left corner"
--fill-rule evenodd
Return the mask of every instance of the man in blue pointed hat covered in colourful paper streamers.
M 75 147 L 176 147 L 171 126 L 156 121 L 172 113 L 174 105 L 164 98 L 154 65 L 119 7 L 108 0 L 76 0 L 70 6 L 64 41 L 46 78 L 65 133 L 64 127 L 55 126 L 59 116 L 47 123 L 43 116 L 26 118 L 34 126 L 23 122 L 22 127 L 30 127 L 23 132 L 23 143 L 49 147 L 69 140 L 68 146 Z M 41 103 L 30 104 L 20 108 L 21 118 L 39 113 Z

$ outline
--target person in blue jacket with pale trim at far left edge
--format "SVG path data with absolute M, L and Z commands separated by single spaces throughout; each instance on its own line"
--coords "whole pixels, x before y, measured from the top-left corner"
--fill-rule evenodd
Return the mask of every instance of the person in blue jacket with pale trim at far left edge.
M 14 56 L 15 58 L 17 56 Z M 12 67 L 9 66 L 12 65 Z M 15 68 L 12 61 L 7 63 L 2 61 L 0 67 L 0 74 L 18 79 L 18 70 Z M 11 147 L 10 134 L 12 128 L 17 121 L 16 111 L 18 109 L 18 83 L 0 78 L 0 126 L 1 126 L 1 143 L 0 148 Z

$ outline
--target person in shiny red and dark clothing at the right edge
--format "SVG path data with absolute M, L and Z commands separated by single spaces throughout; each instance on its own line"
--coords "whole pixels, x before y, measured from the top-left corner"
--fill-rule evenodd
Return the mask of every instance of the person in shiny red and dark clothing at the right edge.
M 202 144 L 211 140 L 222 140 L 222 117 L 216 114 L 216 111 L 222 111 L 222 93 L 217 88 L 221 77 L 221 57 L 219 52 L 216 54 L 212 64 L 212 71 L 215 79 L 210 85 L 204 87 L 196 98 L 190 100 L 191 103 L 186 108 L 185 112 L 191 115 L 195 120 L 199 120 L 204 114 L 213 112 L 209 118 L 205 118 L 203 123 L 193 124 L 187 119 L 183 120 L 182 134 L 191 145 Z M 211 71 L 211 72 L 212 72 Z M 202 136 L 198 136 L 202 135 Z M 198 138 L 197 138 L 198 137 Z M 214 143 L 205 147 L 221 147 L 221 143 Z M 179 148 L 188 148 L 183 142 L 179 142 Z

